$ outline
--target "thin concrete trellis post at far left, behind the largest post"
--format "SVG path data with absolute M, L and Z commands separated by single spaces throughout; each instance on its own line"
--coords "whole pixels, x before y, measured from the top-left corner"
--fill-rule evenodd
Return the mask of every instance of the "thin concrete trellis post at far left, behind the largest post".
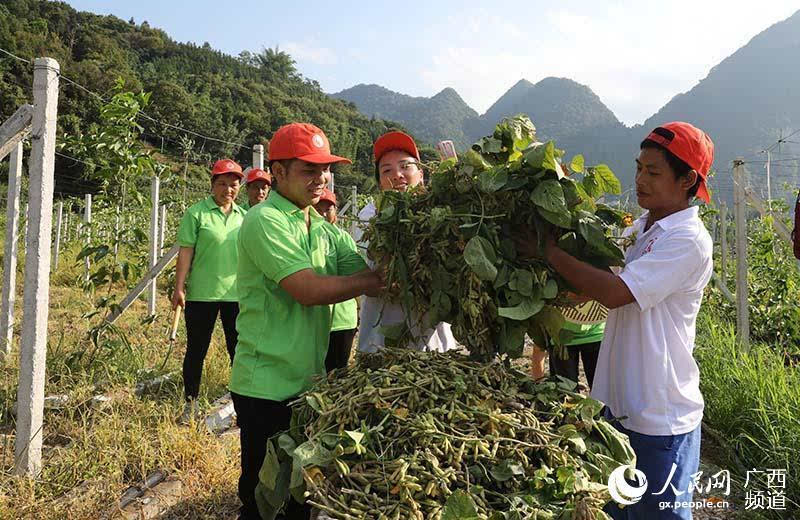
M 17 286 L 19 240 L 19 192 L 22 185 L 22 142 L 11 150 L 6 204 L 6 244 L 3 256 L 3 303 L 0 315 L 0 361 L 11 351 L 14 338 L 14 301 Z

